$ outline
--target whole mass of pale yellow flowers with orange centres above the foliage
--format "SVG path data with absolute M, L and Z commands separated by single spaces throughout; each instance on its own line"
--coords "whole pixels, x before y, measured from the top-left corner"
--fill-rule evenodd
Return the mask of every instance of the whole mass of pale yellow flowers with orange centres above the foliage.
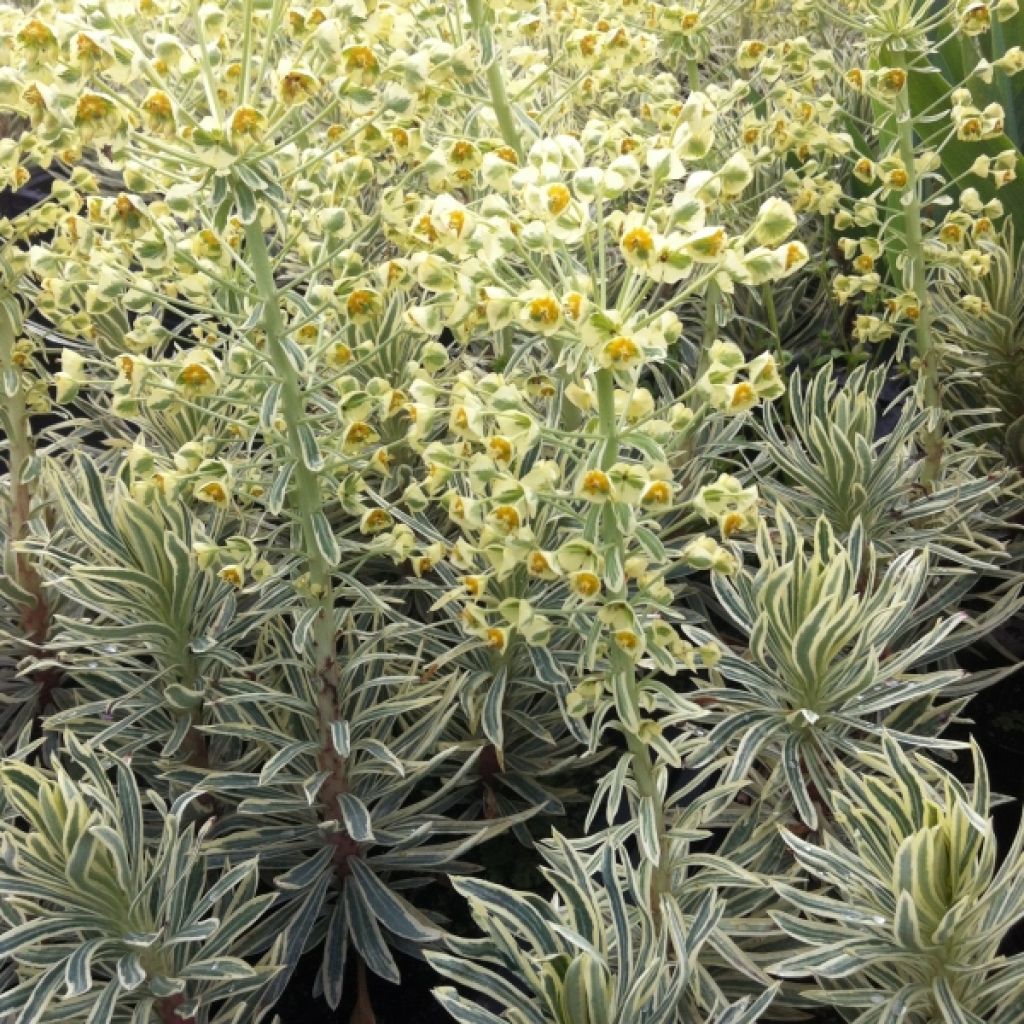
M 783 393 L 772 354 L 722 337 L 720 304 L 800 273 L 814 215 L 841 232 L 837 296 L 873 296 L 901 229 L 888 211 L 936 158 L 862 153 L 844 120 L 849 90 L 898 111 L 903 69 L 844 71 L 806 36 L 768 38 L 767 20 L 716 84 L 698 68 L 725 17 L 712 5 L 559 0 L 542 24 L 536 4 L 490 4 L 499 94 L 450 14 L 0 9 L 0 109 L 28 116 L 4 180 L 70 167 L 33 213 L 46 242 L 17 257 L 67 339 L 55 398 L 122 421 L 146 453 L 129 459 L 137 499 L 212 506 L 212 532 L 280 514 L 297 461 L 339 536 L 449 581 L 442 603 L 495 651 L 567 627 L 597 630 L 590 668 L 610 649 L 671 666 L 669 579 L 733 571 L 757 521 L 736 477 L 701 488 L 682 467 Z M 968 94 L 950 117 L 961 139 L 1002 127 Z M 971 172 L 1002 184 L 1015 166 Z M 984 274 L 1001 212 L 965 189 L 929 258 Z M 920 315 L 909 286 L 885 302 L 858 311 L 860 341 Z M 694 531 L 701 516 L 717 539 Z M 265 574 L 254 552 L 202 543 L 237 585 Z

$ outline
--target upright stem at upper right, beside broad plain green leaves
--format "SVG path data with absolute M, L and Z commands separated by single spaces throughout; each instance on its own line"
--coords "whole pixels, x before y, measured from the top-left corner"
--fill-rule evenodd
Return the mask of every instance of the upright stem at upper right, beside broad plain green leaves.
M 907 74 L 906 59 L 902 51 L 893 51 L 896 66 Z M 928 273 L 925 266 L 924 227 L 921 216 L 921 189 L 918 171 L 914 166 L 913 148 L 913 118 L 910 114 L 910 100 L 907 92 L 907 82 L 903 83 L 897 101 L 896 133 L 899 142 L 900 160 L 906 171 L 906 189 L 904 196 L 907 202 L 903 205 L 903 233 L 906 240 L 906 269 L 909 276 L 910 290 L 913 292 L 918 305 L 918 318 L 914 322 L 914 346 L 918 362 L 924 385 L 925 407 L 935 419 L 942 412 L 942 387 L 939 382 L 938 346 L 932 336 L 932 307 L 928 294 Z M 942 424 L 926 425 L 921 434 L 922 447 L 925 450 L 925 464 L 922 469 L 922 482 L 931 485 L 942 469 Z

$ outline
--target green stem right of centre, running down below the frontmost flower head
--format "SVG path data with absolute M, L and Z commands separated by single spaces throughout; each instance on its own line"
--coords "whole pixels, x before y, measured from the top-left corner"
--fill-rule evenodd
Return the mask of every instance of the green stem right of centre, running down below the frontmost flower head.
M 615 415 L 615 379 L 610 370 L 600 370 L 597 375 L 597 414 L 601 437 L 604 441 L 604 451 L 601 458 L 601 468 L 609 469 L 618 459 L 618 418 Z M 615 525 L 614 517 L 611 514 L 612 506 L 604 506 L 602 519 L 602 534 L 604 542 L 608 547 L 617 548 L 620 562 L 625 562 L 625 539 L 622 531 Z M 610 594 L 614 600 L 625 601 L 629 584 L 624 584 L 620 593 Z M 614 676 L 625 676 L 627 685 L 625 691 L 629 693 L 632 703 L 633 718 L 639 719 L 640 701 L 639 691 L 636 681 L 636 666 L 633 659 L 617 646 L 612 644 L 608 655 L 610 670 Z M 636 782 L 637 793 L 641 798 L 649 798 L 654 807 L 656 829 L 658 836 L 658 860 L 651 874 L 650 908 L 655 923 L 660 922 L 660 897 L 663 894 L 672 891 L 672 864 L 669 838 L 665 830 L 665 807 L 657 790 L 654 778 L 654 763 L 650 755 L 650 750 L 636 733 L 623 729 L 626 735 L 626 742 L 632 759 L 633 779 Z

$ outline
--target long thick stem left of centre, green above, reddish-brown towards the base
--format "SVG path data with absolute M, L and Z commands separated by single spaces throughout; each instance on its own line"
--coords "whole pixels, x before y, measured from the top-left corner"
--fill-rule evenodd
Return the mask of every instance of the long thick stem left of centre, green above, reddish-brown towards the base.
M 281 384 L 281 412 L 286 425 L 289 452 L 294 460 L 292 501 L 302 532 L 302 546 L 309 565 L 309 590 L 316 606 L 312 629 L 316 678 L 321 688 L 317 696 L 319 723 L 319 766 L 328 773 L 319 796 L 328 819 L 338 815 L 338 797 L 347 790 L 345 759 L 337 753 L 331 725 L 340 718 L 340 684 L 334 623 L 334 585 L 331 566 L 316 542 L 315 517 L 319 509 L 319 480 L 302 458 L 301 424 L 305 418 L 305 397 L 299 375 L 282 343 L 286 325 L 281 314 L 278 286 L 266 237 L 256 217 L 246 224 L 246 246 L 250 267 L 263 303 L 263 331 L 266 354 Z

